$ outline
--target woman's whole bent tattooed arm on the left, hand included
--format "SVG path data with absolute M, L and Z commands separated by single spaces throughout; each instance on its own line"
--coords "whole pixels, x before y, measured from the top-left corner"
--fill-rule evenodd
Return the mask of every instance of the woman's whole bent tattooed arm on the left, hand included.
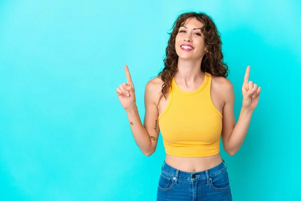
M 160 131 L 158 125 L 159 112 L 157 109 L 158 84 L 154 83 L 153 79 L 147 82 L 145 86 L 145 116 L 143 126 L 135 104 L 134 87 L 127 66 L 125 67 L 125 72 L 128 83 L 122 84 L 117 88 L 117 95 L 126 111 L 131 132 L 137 146 L 144 155 L 150 156 L 156 151 Z M 126 93 L 130 95 L 127 96 Z

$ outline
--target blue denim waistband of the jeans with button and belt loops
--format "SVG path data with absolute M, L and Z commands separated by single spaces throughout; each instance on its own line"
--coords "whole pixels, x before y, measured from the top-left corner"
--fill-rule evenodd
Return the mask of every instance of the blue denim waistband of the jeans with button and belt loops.
M 165 161 L 162 164 L 162 171 L 165 171 L 166 173 L 170 174 L 171 176 L 175 177 L 177 180 L 179 179 L 185 179 L 185 180 L 191 180 L 191 179 L 208 179 L 209 177 L 212 177 L 214 175 L 217 175 L 227 169 L 227 165 L 222 159 L 222 162 L 210 169 L 203 170 L 200 172 L 186 172 L 179 169 L 176 169 L 169 164 L 167 164 Z

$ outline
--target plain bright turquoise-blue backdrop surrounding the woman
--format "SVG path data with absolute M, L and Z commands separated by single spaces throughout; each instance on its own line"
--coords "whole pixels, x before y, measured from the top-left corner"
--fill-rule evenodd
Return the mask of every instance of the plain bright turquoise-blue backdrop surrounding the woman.
M 300 1 L 0 1 L 0 200 L 155 200 L 162 137 L 145 157 L 116 87 L 127 64 L 140 118 L 185 11 L 222 34 L 235 117 L 247 65 L 262 87 L 228 165 L 234 200 L 292 200 L 300 180 Z

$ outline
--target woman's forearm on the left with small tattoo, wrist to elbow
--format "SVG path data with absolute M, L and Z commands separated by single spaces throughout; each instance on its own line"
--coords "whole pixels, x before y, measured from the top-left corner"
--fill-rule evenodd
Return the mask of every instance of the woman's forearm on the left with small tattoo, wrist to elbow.
M 125 111 L 130 124 L 131 132 L 137 146 L 144 155 L 147 156 L 152 154 L 154 152 L 152 148 L 152 142 L 150 141 L 145 127 L 142 125 L 137 106 L 134 106 L 133 108 L 127 109 Z

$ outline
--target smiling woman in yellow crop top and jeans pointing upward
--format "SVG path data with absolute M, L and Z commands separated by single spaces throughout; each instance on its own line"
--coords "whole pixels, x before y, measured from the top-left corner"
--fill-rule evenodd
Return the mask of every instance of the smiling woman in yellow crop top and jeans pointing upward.
M 159 131 L 166 159 L 162 165 L 157 200 L 232 200 L 224 150 L 234 155 L 241 147 L 260 87 L 242 85 L 242 108 L 237 124 L 234 90 L 226 78 L 220 34 L 204 13 L 178 17 L 166 48 L 165 67 L 145 86 L 142 125 L 135 104 L 134 85 L 125 65 L 127 83 L 116 89 L 126 110 L 136 144 L 146 156 L 156 151 Z

